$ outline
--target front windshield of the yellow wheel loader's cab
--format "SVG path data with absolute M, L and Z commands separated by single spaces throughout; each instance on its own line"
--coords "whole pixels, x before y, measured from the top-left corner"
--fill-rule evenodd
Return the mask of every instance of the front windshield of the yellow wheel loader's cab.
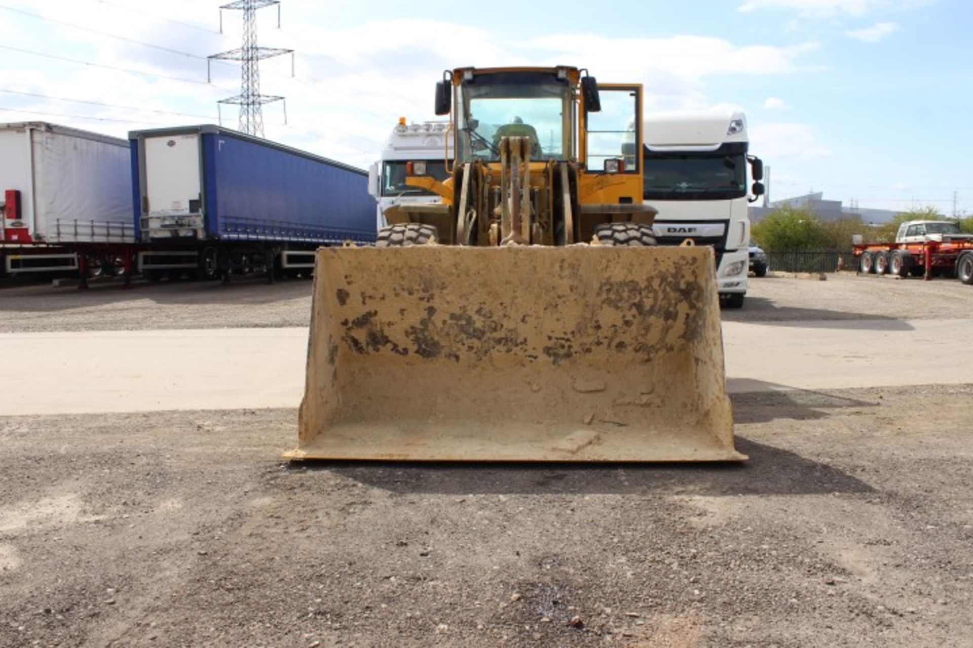
M 533 72 L 478 75 L 460 93 L 460 160 L 499 160 L 500 140 L 507 136 L 529 138 L 531 159 L 566 156 L 571 133 L 564 132 L 564 115 L 572 107 L 567 80 Z

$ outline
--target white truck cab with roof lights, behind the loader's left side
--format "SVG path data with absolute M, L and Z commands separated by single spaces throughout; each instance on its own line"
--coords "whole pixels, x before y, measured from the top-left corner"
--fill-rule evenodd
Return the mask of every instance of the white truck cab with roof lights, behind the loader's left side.
M 392 129 L 381 159 L 369 168 L 369 193 L 378 201 L 376 230 L 384 227 L 385 210 L 402 202 L 435 202 L 439 197 L 423 188 L 406 185 L 406 164 L 424 160 L 426 173 L 436 180 L 450 177 L 452 138 L 449 121 L 420 121 L 407 123 L 400 118 Z

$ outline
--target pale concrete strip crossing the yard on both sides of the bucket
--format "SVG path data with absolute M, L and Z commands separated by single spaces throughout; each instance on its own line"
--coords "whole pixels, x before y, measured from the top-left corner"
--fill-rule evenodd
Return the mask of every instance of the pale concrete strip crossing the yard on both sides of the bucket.
M 969 320 L 723 324 L 731 392 L 973 382 Z M 0 334 L 0 415 L 297 407 L 307 329 Z

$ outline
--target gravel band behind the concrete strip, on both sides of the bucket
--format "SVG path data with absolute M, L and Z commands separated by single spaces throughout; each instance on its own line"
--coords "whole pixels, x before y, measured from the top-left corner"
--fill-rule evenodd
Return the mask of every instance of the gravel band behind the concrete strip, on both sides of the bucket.
M 968 319 L 973 288 L 955 280 L 923 282 L 853 274 L 827 281 L 769 276 L 751 279 L 742 309 L 725 310 L 733 322 L 796 320 Z M 121 290 L 19 286 L 0 290 L 0 333 L 146 328 L 306 326 L 311 283 L 262 280 L 218 283 L 135 284 Z

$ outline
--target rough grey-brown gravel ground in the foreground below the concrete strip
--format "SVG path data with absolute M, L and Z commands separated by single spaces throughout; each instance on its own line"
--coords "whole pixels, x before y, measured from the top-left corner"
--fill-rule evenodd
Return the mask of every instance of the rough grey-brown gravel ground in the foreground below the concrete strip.
M 742 394 L 736 465 L 288 465 L 293 411 L 0 420 L 0 645 L 969 646 L 971 396 Z

